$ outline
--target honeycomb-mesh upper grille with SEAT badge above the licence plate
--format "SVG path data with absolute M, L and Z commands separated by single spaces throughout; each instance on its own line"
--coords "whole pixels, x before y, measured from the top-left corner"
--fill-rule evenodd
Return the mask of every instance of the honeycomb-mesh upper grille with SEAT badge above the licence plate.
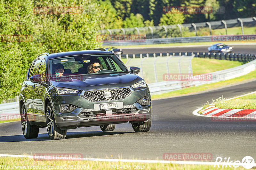
M 131 94 L 129 87 L 84 91 L 83 97 L 92 102 L 122 100 Z

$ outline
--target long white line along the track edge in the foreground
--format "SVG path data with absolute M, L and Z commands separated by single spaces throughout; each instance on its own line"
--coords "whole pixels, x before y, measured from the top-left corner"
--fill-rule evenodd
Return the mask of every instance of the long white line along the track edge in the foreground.
M 0 157 L 18 157 L 18 158 L 35 158 L 35 156 L 32 155 L 11 155 L 11 154 L 0 154 Z M 49 160 L 50 157 L 47 159 Z M 56 160 L 56 158 L 52 158 L 53 160 Z M 70 159 L 64 159 L 64 160 L 72 160 L 74 158 Z M 143 159 L 102 159 L 102 158 L 82 158 L 82 160 L 88 160 L 88 161 L 107 161 L 107 162 L 139 162 L 139 163 L 172 163 L 172 164 L 187 164 L 187 165 L 215 165 L 215 162 L 203 162 L 203 161 L 172 161 L 172 160 L 143 160 Z M 227 163 L 220 162 L 217 165 L 226 165 Z M 238 165 L 243 166 L 242 163 L 228 163 L 229 165 Z M 254 164 L 256 166 L 256 164 Z

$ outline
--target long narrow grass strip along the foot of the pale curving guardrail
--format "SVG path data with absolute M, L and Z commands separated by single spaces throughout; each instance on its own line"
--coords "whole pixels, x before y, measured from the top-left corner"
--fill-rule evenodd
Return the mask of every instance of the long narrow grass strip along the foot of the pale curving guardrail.
M 224 87 L 224 86 L 227 86 L 227 85 L 236 84 L 237 82 L 254 80 L 255 79 L 255 74 L 256 74 L 256 70 L 252 71 L 249 74 L 246 74 L 246 75 L 243 75 L 243 76 L 240 76 L 240 77 L 236 77 L 234 79 L 230 79 L 230 80 L 226 80 L 226 81 L 219 81 L 219 82 L 211 83 L 211 84 L 203 84 L 203 85 L 200 85 L 200 86 L 188 87 L 188 88 L 185 88 L 185 89 L 175 90 L 175 91 L 171 91 L 171 92 L 168 92 L 168 93 L 163 93 L 163 94 L 160 94 L 160 95 L 152 95 L 151 98 L 152 99 L 159 99 L 159 98 L 166 98 L 166 97 L 173 97 L 173 96 L 188 95 L 188 94 L 202 92 L 202 91 L 210 90 L 210 89 L 214 89 L 214 88 L 220 88 L 220 87 Z

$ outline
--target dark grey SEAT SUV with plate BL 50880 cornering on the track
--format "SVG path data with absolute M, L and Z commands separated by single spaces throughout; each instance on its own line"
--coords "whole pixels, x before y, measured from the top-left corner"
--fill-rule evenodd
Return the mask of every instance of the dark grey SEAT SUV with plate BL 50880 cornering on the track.
M 104 48 L 40 54 L 30 65 L 20 89 L 20 116 L 25 138 L 64 139 L 67 129 L 100 126 L 113 131 L 129 122 L 136 132 L 151 127 L 147 84 Z

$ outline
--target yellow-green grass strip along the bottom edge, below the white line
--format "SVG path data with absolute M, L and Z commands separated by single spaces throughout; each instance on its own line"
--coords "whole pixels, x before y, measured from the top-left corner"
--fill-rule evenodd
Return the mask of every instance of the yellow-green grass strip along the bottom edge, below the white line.
M 79 168 L 77 168 L 79 165 Z M 5 166 L 7 169 L 9 166 L 9 169 L 14 166 L 14 169 L 47 169 L 44 166 L 48 166 L 50 169 L 57 169 L 60 166 L 62 166 L 62 169 L 81 169 L 81 166 L 84 166 L 86 168 L 82 169 L 116 169 L 114 168 L 114 165 L 117 166 L 119 165 L 119 169 L 125 169 L 125 168 L 120 168 L 120 166 L 131 166 L 131 169 L 150 169 L 150 170 L 155 170 L 155 169 L 177 169 L 177 170 L 184 170 L 184 169 L 192 169 L 192 170 L 197 170 L 197 169 L 244 169 L 243 167 L 238 167 L 234 168 L 231 166 L 231 168 L 218 168 L 218 167 L 213 167 L 213 165 L 180 165 L 180 164 L 164 164 L 164 163 L 137 163 L 137 162 L 107 162 L 107 161 L 70 161 L 70 160 L 34 160 L 32 158 L 12 158 L 12 157 L 1 157 L 0 158 L 0 166 Z M 18 167 L 18 166 L 23 166 Z M 24 167 L 26 166 L 26 168 Z M 37 167 L 36 167 L 37 166 Z M 52 166 L 52 167 L 51 167 Z M 54 167 L 53 167 L 54 166 Z M 69 168 L 68 168 L 69 167 Z M 73 167 L 73 168 L 71 168 Z M 137 168 L 136 168 L 137 167 Z M 141 168 L 138 168 L 141 167 Z

